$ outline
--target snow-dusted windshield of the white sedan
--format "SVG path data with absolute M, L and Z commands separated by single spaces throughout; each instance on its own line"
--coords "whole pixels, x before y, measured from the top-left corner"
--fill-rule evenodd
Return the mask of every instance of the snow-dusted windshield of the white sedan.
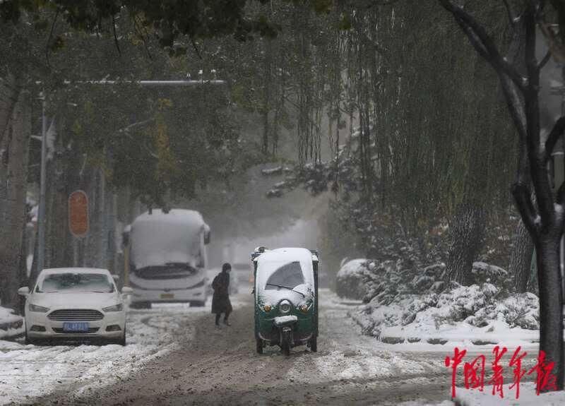
M 114 283 L 102 273 L 53 273 L 46 275 L 37 292 L 114 292 Z

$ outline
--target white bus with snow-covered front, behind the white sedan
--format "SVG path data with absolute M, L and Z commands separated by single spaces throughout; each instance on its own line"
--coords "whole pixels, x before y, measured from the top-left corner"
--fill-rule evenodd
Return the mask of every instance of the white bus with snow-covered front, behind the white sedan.
M 129 232 L 131 307 L 155 302 L 206 303 L 206 244 L 210 227 L 194 210 L 143 213 Z

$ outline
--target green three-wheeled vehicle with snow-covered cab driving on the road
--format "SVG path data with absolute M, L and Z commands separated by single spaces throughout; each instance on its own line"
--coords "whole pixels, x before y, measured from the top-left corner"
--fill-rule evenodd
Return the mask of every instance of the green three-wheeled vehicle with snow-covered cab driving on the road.
M 251 253 L 254 264 L 255 339 L 257 352 L 278 345 L 285 354 L 307 345 L 318 350 L 317 251 L 304 248 Z

